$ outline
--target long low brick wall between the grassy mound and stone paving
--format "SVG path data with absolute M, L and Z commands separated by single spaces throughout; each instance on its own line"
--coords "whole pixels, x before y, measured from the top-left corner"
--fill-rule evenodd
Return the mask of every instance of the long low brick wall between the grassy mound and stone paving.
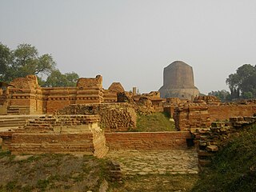
M 186 147 L 188 131 L 105 133 L 110 150 L 168 150 Z

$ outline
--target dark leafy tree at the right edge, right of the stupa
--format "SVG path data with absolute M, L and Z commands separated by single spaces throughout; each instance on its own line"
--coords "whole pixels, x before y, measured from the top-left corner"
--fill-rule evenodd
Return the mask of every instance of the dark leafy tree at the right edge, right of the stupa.
M 245 64 L 226 79 L 231 98 L 256 98 L 256 66 Z

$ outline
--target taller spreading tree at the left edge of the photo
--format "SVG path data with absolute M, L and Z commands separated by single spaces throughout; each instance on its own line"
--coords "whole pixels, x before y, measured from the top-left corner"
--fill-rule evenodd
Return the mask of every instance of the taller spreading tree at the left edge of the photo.
M 47 76 L 56 66 L 50 54 L 39 56 L 38 50 L 30 44 L 21 44 L 16 50 L 10 50 L 0 43 L 0 54 L 0 78 L 5 82 L 28 74 Z

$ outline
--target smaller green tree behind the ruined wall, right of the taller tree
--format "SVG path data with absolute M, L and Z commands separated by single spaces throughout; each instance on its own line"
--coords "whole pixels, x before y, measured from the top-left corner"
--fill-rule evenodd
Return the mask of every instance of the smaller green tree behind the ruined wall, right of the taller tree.
M 78 78 L 78 74 L 74 72 L 62 74 L 59 70 L 54 70 L 42 86 L 76 86 Z

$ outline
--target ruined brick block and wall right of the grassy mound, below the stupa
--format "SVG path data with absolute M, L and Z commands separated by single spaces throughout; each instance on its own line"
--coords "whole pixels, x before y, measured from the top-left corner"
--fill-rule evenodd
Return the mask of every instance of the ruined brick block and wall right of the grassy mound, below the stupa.
M 198 97 L 194 102 L 180 103 L 174 109 L 175 125 L 178 130 L 210 127 L 210 123 L 214 121 L 255 114 L 256 100 L 221 103 L 214 96 Z

